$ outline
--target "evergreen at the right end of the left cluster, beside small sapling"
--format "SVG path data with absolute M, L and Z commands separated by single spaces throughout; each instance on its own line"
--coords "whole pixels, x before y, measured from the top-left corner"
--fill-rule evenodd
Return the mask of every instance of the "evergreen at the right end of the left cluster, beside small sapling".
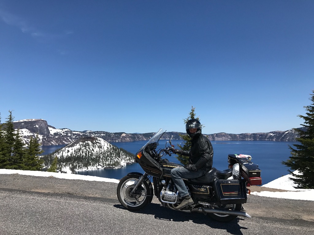
M 26 154 L 23 159 L 24 170 L 41 170 L 44 160 L 39 159 L 39 155 L 44 151 L 41 150 L 40 146 L 41 145 L 39 144 L 38 134 L 36 134 L 35 138 L 31 136 L 29 148 L 26 149 Z

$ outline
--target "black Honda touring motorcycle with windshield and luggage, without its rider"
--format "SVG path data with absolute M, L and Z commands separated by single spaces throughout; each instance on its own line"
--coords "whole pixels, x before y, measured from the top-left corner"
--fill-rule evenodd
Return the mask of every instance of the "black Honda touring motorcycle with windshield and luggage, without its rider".
M 251 218 L 241 211 L 246 203 L 247 189 L 250 185 L 261 185 L 261 170 L 251 162 L 251 156 L 229 154 L 229 168 L 212 168 L 205 175 L 196 179 L 183 179 L 194 204 L 176 209 L 181 203 L 176 185 L 171 179 L 171 170 L 183 165 L 169 162 L 163 158 L 171 156 L 171 139 L 164 149 L 157 149 L 159 140 L 165 132 L 160 129 L 135 154 L 136 162 L 145 171 L 144 174 L 130 172 L 123 177 L 117 187 L 117 197 L 128 210 L 140 210 L 156 196 L 161 204 L 169 209 L 181 212 L 200 212 L 222 222 L 228 222 L 238 216 Z M 167 147 L 167 144 L 170 146 Z M 153 185 L 151 183 L 151 178 Z

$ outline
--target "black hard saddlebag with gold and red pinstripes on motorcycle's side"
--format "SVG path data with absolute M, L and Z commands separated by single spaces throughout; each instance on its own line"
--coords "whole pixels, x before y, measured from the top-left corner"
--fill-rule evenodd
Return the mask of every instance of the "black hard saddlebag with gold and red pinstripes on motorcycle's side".
M 216 199 L 220 204 L 246 203 L 245 180 L 215 180 L 213 186 Z

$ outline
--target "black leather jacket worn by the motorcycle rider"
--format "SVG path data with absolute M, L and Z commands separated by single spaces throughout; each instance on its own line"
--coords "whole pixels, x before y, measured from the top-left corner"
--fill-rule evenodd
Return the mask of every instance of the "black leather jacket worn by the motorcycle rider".
M 210 170 L 213 166 L 213 146 L 209 139 L 202 133 L 194 136 L 191 140 L 190 151 L 182 151 L 182 155 L 189 156 L 189 162 L 195 164 L 197 170 Z

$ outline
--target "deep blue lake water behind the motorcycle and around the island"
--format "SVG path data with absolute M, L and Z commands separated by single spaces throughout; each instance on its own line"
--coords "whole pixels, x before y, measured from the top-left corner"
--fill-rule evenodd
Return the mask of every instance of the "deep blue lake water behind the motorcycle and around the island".
M 171 140 L 173 145 L 181 144 L 182 140 Z M 119 148 L 136 154 L 137 151 L 147 141 L 133 142 L 111 142 Z M 166 140 L 160 140 L 160 145 L 157 149 L 165 147 Z M 281 164 L 282 161 L 289 159 L 290 149 L 288 145 L 297 144 L 297 142 L 273 142 L 273 141 L 212 141 L 214 149 L 213 166 L 218 170 L 228 168 L 228 154 L 248 154 L 252 156 L 252 162 L 256 163 L 262 170 L 263 184 L 269 183 L 283 175 L 289 174 L 288 168 Z M 44 154 L 53 152 L 60 148 L 59 146 L 43 146 Z M 50 151 L 49 148 L 54 148 Z M 177 148 L 177 147 L 176 147 Z M 179 163 L 174 155 L 166 157 L 171 162 Z M 105 169 L 105 170 L 89 170 L 79 171 L 80 175 L 93 175 L 104 178 L 121 179 L 129 172 L 144 173 L 142 168 L 137 164 L 123 166 L 120 169 Z

